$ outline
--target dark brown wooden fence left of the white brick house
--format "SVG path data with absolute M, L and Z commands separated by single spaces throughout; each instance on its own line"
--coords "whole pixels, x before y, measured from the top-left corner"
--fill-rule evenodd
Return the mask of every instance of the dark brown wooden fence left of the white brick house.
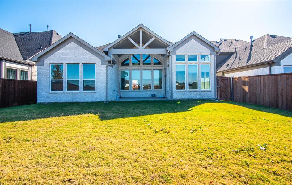
M 36 81 L 0 79 L 0 108 L 36 103 Z

